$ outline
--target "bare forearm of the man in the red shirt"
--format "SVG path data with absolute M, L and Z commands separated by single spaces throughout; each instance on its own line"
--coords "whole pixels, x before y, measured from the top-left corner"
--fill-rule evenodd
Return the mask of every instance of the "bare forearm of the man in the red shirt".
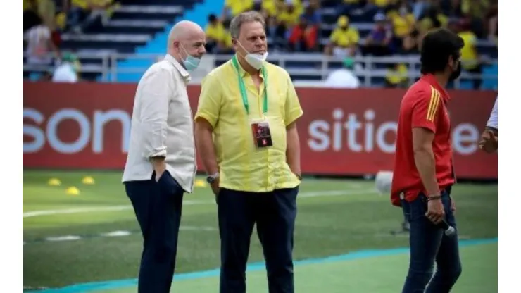
M 432 149 L 418 149 L 414 151 L 414 161 L 423 186 L 427 189 L 427 196 L 439 194 L 438 181 L 436 179 L 436 163 Z

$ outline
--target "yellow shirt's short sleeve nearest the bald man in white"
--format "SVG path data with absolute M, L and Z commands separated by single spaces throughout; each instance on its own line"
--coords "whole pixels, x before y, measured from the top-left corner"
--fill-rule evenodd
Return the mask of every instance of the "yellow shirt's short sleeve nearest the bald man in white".
M 201 81 L 201 94 L 199 95 L 199 104 L 194 120 L 203 118 L 215 128 L 222 104 L 221 93 L 217 76 L 213 73 L 206 75 Z

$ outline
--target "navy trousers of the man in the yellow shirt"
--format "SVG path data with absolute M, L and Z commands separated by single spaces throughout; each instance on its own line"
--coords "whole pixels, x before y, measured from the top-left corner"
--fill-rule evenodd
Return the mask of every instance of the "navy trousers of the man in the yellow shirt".
M 220 189 L 220 293 L 246 292 L 246 262 L 255 224 L 268 271 L 268 292 L 294 293 L 293 236 L 298 192 L 299 187 L 261 193 Z

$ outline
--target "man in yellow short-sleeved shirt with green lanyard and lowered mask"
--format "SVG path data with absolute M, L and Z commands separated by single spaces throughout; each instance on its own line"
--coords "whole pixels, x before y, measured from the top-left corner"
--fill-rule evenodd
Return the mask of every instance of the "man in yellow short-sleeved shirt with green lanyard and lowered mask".
M 201 82 L 196 147 L 218 204 L 220 292 L 246 292 L 253 226 L 270 292 L 294 292 L 293 237 L 301 179 L 299 99 L 286 70 L 265 61 L 265 21 L 256 11 L 230 24 L 232 60 Z

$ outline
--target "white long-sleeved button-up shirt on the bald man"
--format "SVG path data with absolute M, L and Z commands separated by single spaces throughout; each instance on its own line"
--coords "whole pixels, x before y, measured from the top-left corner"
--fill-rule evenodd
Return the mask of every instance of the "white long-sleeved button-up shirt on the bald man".
M 196 154 L 189 80 L 187 70 L 170 55 L 139 80 L 123 182 L 152 179 L 150 158 L 165 156 L 168 172 L 186 192 L 192 192 Z

